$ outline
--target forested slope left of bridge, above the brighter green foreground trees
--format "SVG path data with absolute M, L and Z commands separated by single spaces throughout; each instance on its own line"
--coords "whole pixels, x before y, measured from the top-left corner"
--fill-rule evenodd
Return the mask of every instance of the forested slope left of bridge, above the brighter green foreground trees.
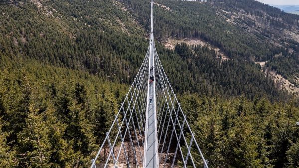
M 29 0 L 18 7 L 0 5 L 0 51 L 5 56 L 33 58 L 111 81 L 134 79 L 131 74 L 137 73 L 147 42 L 115 3 L 46 0 L 42 5 L 38 9 Z

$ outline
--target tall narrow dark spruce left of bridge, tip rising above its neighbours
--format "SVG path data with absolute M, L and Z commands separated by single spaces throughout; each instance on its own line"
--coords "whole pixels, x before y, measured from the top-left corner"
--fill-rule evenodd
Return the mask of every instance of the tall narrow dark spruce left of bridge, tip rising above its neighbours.
M 91 160 L 89 155 L 96 148 L 96 138 L 92 122 L 87 116 L 89 109 L 86 106 L 87 97 L 83 84 L 75 84 L 73 97 L 74 99 L 68 104 L 66 136 L 73 143 L 77 157 L 75 166 L 86 166 Z

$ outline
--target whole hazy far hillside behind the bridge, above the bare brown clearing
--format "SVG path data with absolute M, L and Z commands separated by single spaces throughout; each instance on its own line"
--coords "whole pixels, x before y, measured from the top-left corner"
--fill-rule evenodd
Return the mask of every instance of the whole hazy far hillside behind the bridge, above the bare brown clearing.
M 221 49 L 229 58 L 267 61 L 267 69 L 299 84 L 296 80 L 299 75 L 298 15 L 254 0 L 156 3 L 154 21 L 160 41 L 167 38 L 201 39 Z M 124 4 L 144 27 L 148 27 L 149 3 L 146 0 L 124 0 Z M 282 64 L 277 63 L 277 59 Z

